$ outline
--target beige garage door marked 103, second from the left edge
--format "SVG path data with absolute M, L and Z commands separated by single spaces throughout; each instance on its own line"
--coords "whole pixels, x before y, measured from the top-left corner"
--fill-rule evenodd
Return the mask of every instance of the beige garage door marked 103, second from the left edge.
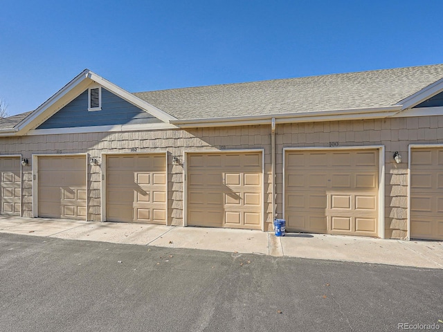
M 38 157 L 38 215 L 87 218 L 86 156 Z

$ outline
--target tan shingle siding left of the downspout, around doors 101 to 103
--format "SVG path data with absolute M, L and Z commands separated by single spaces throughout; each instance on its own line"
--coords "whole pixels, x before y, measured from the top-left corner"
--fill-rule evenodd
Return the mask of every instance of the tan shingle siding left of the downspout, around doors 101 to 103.
M 168 151 L 168 225 L 183 225 L 183 165 L 172 165 L 172 156 L 184 158 L 184 151 L 214 149 L 264 149 L 265 230 L 271 228 L 271 129 L 270 126 L 248 126 L 188 131 L 159 130 L 113 133 L 73 133 L 47 136 L 0 138 L 3 154 L 21 153 L 31 163 L 32 154 L 76 154 L 87 152 L 90 158 L 101 154 L 134 154 Z M 15 151 L 15 152 L 14 152 Z M 59 152 L 60 152 L 59 151 Z M 24 197 L 22 212 L 32 216 L 31 165 L 23 167 Z M 88 165 L 88 220 L 100 221 L 100 167 Z M 105 171 L 105 169 L 103 170 Z

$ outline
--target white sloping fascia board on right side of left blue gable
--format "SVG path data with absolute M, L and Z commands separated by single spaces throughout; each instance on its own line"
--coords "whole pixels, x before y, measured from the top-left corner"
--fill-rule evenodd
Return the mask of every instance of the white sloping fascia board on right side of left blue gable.
M 120 88 L 120 86 L 117 86 L 116 84 L 111 83 L 108 80 L 105 80 L 103 77 L 100 77 L 99 75 L 91 71 L 89 71 L 87 76 L 94 82 L 97 82 L 98 84 L 103 86 L 105 89 L 118 95 L 120 98 L 123 98 L 127 102 L 130 102 L 134 106 L 139 107 L 144 111 L 147 111 L 147 113 L 150 113 L 152 116 L 155 116 L 156 118 L 162 120 L 163 122 L 170 122 L 171 120 L 177 120 L 177 118 L 170 116 L 170 114 L 161 111 L 161 109 L 157 109 L 152 104 L 145 102 L 144 100 L 141 100 L 132 93 L 126 91 L 125 89 Z

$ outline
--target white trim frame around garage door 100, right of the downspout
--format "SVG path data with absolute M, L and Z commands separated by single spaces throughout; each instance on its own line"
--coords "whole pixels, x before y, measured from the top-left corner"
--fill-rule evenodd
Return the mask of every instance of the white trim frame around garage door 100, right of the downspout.
M 381 239 L 385 238 L 385 147 L 384 145 L 363 145 L 363 146 L 352 146 L 352 147 L 284 147 L 283 148 L 283 161 L 282 161 L 282 175 L 283 175 L 283 192 L 282 192 L 282 208 L 283 208 L 283 219 L 285 210 L 285 156 L 286 151 L 336 151 L 336 150 L 368 150 L 368 149 L 378 149 L 379 150 L 379 223 L 378 223 L 378 235 Z

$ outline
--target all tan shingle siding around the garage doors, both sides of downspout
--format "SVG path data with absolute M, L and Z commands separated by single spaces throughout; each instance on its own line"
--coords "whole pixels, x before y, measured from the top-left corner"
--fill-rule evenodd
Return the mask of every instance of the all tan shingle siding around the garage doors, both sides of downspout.
M 300 124 L 278 124 L 276 128 L 276 212 L 282 216 L 283 148 L 383 145 L 385 147 L 385 237 L 407 237 L 408 145 L 443 144 L 443 116 L 350 120 Z M 0 138 L 1 154 L 87 152 L 101 154 L 168 151 L 168 224 L 183 225 L 183 166 L 172 165 L 172 156 L 184 158 L 184 151 L 214 149 L 264 149 L 265 230 L 271 230 L 271 126 L 177 129 L 132 132 L 73 133 L 47 136 Z M 393 154 L 403 157 L 395 163 Z M 60 152 L 60 151 L 59 151 Z M 132 151 L 134 153 L 134 151 Z M 88 220 L 100 221 L 100 167 L 88 165 Z M 32 216 L 31 167 L 23 167 L 22 212 Z

